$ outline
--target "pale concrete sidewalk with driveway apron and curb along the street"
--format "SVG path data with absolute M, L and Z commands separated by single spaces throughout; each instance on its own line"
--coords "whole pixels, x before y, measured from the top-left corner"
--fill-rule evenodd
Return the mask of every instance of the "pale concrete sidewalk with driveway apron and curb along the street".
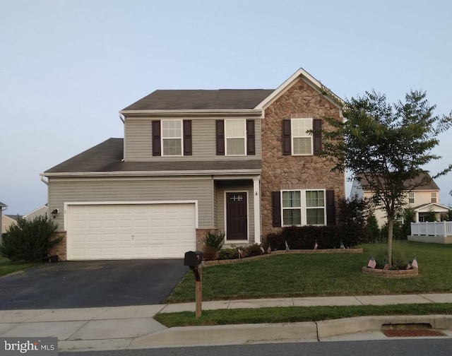
M 305 297 L 240 299 L 203 302 L 203 310 L 261 307 L 314 307 L 452 303 L 451 294 L 366 295 L 356 297 Z M 161 348 L 184 345 L 225 345 L 262 341 L 333 340 L 367 331 L 365 338 L 386 338 L 382 324 L 427 323 L 452 337 L 452 316 L 379 316 L 286 324 L 245 324 L 166 328 L 153 319 L 159 312 L 194 312 L 194 303 L 157 304 L 87 309 L 0 311 L 0 337 L 45 337 L 59 340 L 59 351 Z

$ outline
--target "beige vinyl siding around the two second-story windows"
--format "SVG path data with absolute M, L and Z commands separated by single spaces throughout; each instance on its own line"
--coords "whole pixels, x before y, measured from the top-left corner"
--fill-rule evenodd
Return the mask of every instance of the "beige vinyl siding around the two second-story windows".
M 191 119 L 192 155 L 186 157 L 153 156 L 152 119 L 126 119 L 126 161 L 178 161 L 178 160 L 256 160 L 261 158 L 261 119 L 255 119 L 256 155 L 216 155 L 215 120 L 218 118 Z M 246 119 L 246 118 L 239 118 Z

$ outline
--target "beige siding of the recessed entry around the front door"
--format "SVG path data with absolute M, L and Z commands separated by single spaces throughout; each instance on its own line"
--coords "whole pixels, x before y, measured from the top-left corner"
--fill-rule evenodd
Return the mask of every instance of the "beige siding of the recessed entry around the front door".
M 253 198 L 253 185 L 238 185 L 238 184 L 223 184 L 220 182 L 216 189 L 216 195 L 218 199 L 217 210 L 218 210 L 218 229 L 222 232 L 225 231 L 225 192 L 228 191 L 246 191 L 246 203 L 248 204 L 248 232 L 249 232 L 249 242 L 254 243 L 254 198 Z

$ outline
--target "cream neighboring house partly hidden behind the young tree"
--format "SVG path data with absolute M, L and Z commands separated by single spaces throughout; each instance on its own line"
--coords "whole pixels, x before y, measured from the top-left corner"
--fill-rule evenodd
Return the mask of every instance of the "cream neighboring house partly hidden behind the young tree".
M 415 182 L 422 182 L 424 175 L 421 174 L 417 177 Z M 442 206 L 439 203 L 439 186 L 436 185 L 433 179 L 429 180 L 428 184 L 422 184 L 416 186 L 412 191 L 407 192 L 405 198 L 406 206 L 410 206 L 415 210 L 415 223 L 425 221 L 427 215 L 434 211 L 436 220 L 441 220 L 441 214 L 447 213 L 448 208 Z M 356 179 L 352 184 L 351 197 L 357 196 L 358 198 L 371 198 L 374 194 L 367 188 L 368 181 L 364 177 L 360 180 Z M 379 226 L 383 226 L 387 219 L 386 213 L 381 209 L 375 210 L 375 217 L 379 223 Z

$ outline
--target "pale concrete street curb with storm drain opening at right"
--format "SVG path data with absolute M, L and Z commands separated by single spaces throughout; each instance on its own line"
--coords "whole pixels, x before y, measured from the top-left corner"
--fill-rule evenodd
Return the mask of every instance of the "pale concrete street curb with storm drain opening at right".
M 452 316 L 359 316 L 305 323 L 176 327 L 136 338 L 131 342 L 130 348 L 228 345 L 263 341 L 319 342 L 323 338 L 333 336 L 380 331 L 383 324 L 430 324 L 432 328 L 452 330 Z

